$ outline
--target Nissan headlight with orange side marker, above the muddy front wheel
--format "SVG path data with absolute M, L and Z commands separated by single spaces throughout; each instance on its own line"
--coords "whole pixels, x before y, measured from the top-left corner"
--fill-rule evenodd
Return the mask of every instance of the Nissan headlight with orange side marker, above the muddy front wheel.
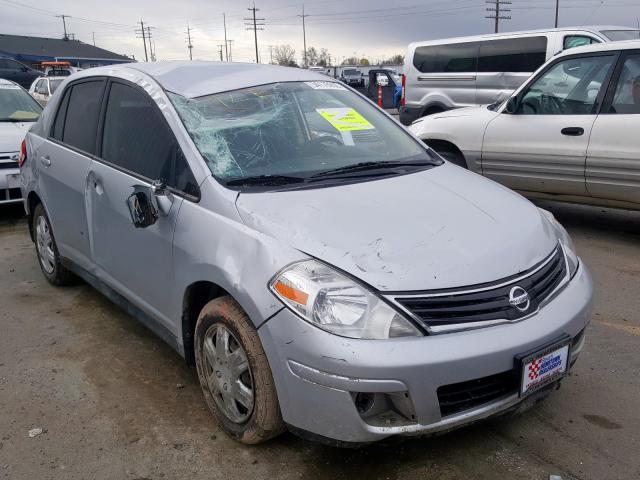
M 315 260 L 288 266 L 269 287 L 307 322 L 336 335 L 375 340 L 422 336 L 376 295 Z

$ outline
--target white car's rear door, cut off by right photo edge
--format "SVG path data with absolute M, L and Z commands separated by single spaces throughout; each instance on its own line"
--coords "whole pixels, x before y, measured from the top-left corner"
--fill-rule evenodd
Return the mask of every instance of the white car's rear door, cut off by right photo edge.
M 587 152 L 594 197 L 640 203 L 640 51 L 623 53 Z

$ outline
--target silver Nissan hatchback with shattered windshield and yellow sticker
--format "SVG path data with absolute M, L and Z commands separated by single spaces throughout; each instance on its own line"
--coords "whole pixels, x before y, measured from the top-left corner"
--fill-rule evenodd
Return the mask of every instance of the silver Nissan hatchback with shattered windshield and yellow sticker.
M 42 272 L 195 364 L 233 438 L 449 430 L 576 361 L 592 285 L 566 231 L 340 82 L 155 62 L 62 88 L 21 158 Z

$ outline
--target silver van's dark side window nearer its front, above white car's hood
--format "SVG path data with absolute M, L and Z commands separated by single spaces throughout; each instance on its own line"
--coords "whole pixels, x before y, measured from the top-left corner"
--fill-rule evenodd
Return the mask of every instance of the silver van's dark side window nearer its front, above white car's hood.
M 480 45 L 479 72 L 533 72 L 545 62 L 547 37 L 487 40 Z

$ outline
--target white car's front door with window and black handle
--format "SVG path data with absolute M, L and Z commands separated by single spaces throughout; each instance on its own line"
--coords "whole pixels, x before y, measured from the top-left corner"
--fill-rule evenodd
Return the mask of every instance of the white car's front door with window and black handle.
M 517 95 L 515 112 L 487 126 L 483 175 L 515 190 L 588 195 L 587 145 L 615 58 L 561 59 L 530 82 Z

